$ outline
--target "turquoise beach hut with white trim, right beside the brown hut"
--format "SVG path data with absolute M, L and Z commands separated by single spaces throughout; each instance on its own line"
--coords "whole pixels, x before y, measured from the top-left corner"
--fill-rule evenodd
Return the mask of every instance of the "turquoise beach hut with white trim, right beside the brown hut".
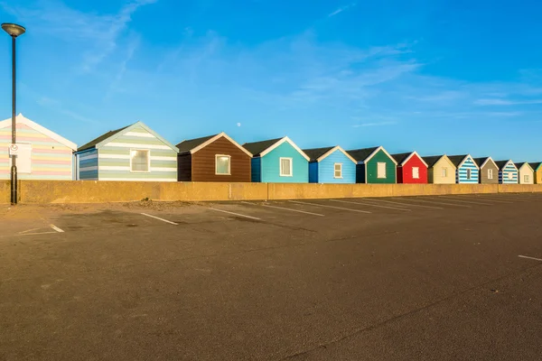
M 284 138 L 244 143 L 252 153 L 252 181 L 268 183 L 308 183 L 309 157 L 290 140 Z

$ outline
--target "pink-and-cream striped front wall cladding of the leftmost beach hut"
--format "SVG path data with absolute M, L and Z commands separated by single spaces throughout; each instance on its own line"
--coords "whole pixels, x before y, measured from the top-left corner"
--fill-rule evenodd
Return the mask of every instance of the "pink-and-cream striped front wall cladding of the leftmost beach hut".
M 15 125 L 17 143 L 31 144 L 31 172 L 19 171 L 19 180 L 72 180 L 72 150 L 28 125 Z M 0 179 L 10 178 L 11 161 L 8 147 L 12 127 L 0 129 Z

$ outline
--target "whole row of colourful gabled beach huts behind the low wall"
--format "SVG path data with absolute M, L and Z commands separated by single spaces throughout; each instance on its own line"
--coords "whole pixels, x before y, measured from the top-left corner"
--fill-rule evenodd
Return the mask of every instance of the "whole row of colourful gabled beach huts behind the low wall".
M 542 183 L 541 162 L 494 161 L 470 154 L 390 154 L 382 146 L 300 149 L 287 136 L 238 144 L 220 133 L 169 143 L 142 122 L 79 148 L 16 116 L 21 180 L 153 180 L 292 183 Z M 0 179 L 9 179 L 12 119 L 0 121 Z

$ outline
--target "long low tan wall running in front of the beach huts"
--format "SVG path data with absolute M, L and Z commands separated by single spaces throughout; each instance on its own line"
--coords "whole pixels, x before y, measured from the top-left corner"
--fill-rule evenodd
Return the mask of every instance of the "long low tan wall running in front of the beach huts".
M 542 192 L 522 184 L 299 184 L 94 180 L 20 180 L 21 203 L 333 199 L 443 194 Z M 0 181 L 0 202 L 9 203 L 9 181 Z

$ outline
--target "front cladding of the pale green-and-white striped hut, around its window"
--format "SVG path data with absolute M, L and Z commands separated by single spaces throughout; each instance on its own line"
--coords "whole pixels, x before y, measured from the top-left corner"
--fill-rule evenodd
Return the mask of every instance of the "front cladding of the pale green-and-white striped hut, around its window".
M 149 150 L 150 171 L 131 171 L 130 153 Z M 137 126 L 98 149 L 99 180 L 177 180 L 177 152 Z

